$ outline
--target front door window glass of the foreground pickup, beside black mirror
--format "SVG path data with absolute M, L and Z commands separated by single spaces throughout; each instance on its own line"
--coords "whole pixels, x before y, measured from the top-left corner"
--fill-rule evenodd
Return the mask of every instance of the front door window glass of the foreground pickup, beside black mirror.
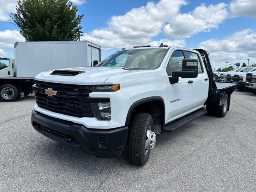
M 172 75 L 173 71 L 181 71 L 183 59 L 184 59 L 184 55 L 182 51 L 177 50 L 172 53 L 172 56 L 166 68 L 166 72 L 169 76 Z

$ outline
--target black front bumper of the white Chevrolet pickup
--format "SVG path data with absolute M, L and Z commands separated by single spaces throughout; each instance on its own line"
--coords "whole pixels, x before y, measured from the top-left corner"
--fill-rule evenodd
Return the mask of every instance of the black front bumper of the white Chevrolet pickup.
M 88 129 L 81 124 L 32 111 L 32 126 L 44 136 L 100 158 L 119 157 L 128 137 L 128 127 L 108 130 Z

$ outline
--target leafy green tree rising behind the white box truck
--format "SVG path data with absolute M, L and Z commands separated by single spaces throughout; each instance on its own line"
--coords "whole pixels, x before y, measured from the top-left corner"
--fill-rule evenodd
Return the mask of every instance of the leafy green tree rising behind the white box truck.
M 26 41 L 78 40 L 83 15 L 69 0 L 18 0 L 11 14 Z

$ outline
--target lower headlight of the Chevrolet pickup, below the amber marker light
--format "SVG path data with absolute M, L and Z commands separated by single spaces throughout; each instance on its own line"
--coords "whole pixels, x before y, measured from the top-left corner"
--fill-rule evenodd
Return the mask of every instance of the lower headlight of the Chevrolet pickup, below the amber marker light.
M 91 106 L 93 114 L 98 120 L 111 119 L 110 102 L 91 103 Z

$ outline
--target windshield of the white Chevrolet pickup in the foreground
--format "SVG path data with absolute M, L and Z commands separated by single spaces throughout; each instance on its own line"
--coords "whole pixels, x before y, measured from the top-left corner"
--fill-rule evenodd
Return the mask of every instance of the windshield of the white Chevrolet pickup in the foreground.
M 96 67 L 132 67 L 156 69 L 160 66 L 168 49 L 138 49 L 115 52 Z

